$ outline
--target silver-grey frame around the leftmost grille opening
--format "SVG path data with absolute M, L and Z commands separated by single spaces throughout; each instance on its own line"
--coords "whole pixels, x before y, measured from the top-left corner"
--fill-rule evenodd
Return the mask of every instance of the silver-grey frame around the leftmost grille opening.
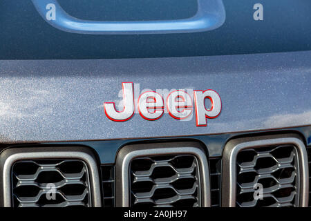
M 53 150 L 53 151 L 50 151 Z M 100 179 L 97 170 L 97 164 L 93 153 L 81 146 L 77 147 L 38 147 L 38 148 L 9 148 L 1 153 L 0 157 L 0 170 L 1 192 L 3 193 L 3 206 L 11 207 L 12 204 L 12 166 L 19 161 L 29 160 L 81 160 L 85 163 L 88 169 L 88 180 L 90 183 L 91 206 L 100 207 L 101 192 L 100 192 Z M 33 177 L 32 177 L 33 178 Z M 86 193 L 83 193 L 81 197 Z M 34 199 L 35 200 L 35 199 Z M 70 199 L 68 200 L 76 200 Z

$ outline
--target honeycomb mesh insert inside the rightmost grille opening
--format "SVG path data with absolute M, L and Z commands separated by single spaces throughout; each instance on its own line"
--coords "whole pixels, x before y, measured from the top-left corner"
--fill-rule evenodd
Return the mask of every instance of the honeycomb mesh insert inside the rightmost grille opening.
M 236 206 L 298 206 L 297 165 L 292 145 L 247 148 L 238 153 Z M 258 199 L 256 184 L 263 187 L 262 199 Z

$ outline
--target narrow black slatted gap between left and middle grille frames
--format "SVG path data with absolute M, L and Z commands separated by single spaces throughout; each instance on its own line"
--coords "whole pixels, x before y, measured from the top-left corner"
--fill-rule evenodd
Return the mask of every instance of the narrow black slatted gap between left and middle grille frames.
M 102 189 L 104 207 L 115 207 L 115 166 L 102 166 Z

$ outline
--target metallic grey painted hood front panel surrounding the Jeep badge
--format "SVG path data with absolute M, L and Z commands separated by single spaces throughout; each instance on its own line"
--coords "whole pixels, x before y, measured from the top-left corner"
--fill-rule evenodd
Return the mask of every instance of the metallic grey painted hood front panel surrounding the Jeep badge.
M 209 135 L 311 125 L 311 52 L 103 60 L 0 61 L 0 142 Z M 122 81 L 140 89 L 216 90 L 206 127 L 164 114 L 112 122 L 104 102 Z

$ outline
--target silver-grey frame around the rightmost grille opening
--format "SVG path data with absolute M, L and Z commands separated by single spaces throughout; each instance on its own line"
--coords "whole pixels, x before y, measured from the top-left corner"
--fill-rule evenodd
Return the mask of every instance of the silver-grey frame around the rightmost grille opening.
M 297 185 L 299 185 L 298 187 L 300 190 L 298 206 L 308 206 L 308 155 L 305 145 L 301 141 L 300 137 L 294 134 L 247 137 L 230 140 L 226 144 L 223 153 L 222 206 L 236 206 L 236 159 L 240 151 L 246 150 L 248 148 L 263 148 L 267 146 L 281 146 L 287 144 L 294 145 L 296 148 L 296 153 L 298 154 L 297 166 L 299 166 L 299 169 L 297 172 L 299 172 L 299 183 Z M 281 166 L 282 165 L 284 164 L 281 164 Z M 271 173 L 271 171 L 269 171 L 269 173 Z

